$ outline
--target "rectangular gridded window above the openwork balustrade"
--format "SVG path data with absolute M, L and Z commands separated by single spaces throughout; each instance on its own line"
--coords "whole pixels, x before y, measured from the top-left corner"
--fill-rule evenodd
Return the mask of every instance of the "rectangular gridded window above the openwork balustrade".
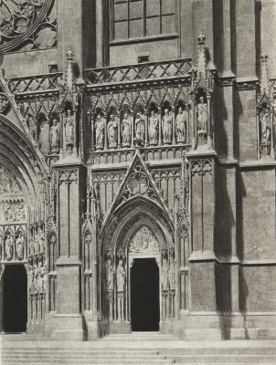
M 112 0 L 112 38 L 175 33 L 175 0 Z

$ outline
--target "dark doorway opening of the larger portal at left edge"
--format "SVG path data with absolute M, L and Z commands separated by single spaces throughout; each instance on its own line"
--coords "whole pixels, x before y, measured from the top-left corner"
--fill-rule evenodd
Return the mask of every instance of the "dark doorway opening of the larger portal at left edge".
M 3 329 L 27 330 L 27 273 L 23 265 L 6 265 L 3 274 Z

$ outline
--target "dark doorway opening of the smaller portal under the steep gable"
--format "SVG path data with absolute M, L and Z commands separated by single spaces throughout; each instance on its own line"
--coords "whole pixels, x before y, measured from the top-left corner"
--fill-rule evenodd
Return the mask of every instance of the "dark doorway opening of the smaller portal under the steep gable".
M 136 258 L 131 268 L 133 331 L 158 331 L 159 268 L 154 258 Z

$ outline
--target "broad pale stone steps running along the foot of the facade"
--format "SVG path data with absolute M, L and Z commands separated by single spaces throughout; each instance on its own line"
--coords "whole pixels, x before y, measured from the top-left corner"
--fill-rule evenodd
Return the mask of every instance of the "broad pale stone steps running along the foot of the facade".
M 185 341 L 154 332 L 59 342 L 1 336 L 1 365 L 276 365 L 276 341 Z

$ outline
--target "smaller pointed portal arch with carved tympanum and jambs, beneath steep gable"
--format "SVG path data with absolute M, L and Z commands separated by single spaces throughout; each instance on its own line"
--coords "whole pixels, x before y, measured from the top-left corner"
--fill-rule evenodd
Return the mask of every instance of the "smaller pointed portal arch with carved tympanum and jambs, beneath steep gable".
M 134 258 L 155 258 L 160 276 L 160 331 L 176 318 L 174 226 L 161 205 L 136 195 L 102 227 L 101 316 L 110 333 L 131 331 L 130 270 Z

